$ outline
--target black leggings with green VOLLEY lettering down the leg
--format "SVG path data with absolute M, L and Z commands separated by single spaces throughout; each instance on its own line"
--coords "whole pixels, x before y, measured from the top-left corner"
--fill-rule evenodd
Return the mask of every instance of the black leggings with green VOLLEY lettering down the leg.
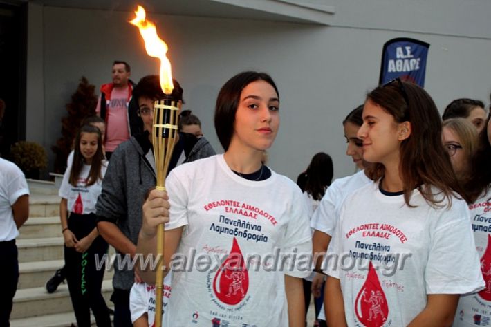
M 68 228 L 77 240 L 82 239 L 95 228 L 95 214 L 70 214 Z M 74 247 L 64 248 L 66 281 L 79 327 L 91 326 L 91 309 L 98 327 L 111 326 L 109 310 L 101 293 L 105 265 L 97 267 L 95 261 L 95 254 L 99 256 L 98 261 L 102 261 L 107 248 L 101 236 L 84 253 L 75 251 Z

